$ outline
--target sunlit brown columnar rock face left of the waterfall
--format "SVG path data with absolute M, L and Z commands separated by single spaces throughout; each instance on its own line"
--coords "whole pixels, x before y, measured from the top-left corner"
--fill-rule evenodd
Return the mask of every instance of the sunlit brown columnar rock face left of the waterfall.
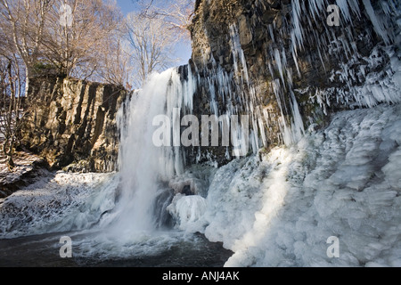
M 79 172 L 110 172 L 119 154 L 118 110 L 127 91 L 60 77 L 30 81 L 29 113 L 22 145 L 43 156 L 50 167 Z

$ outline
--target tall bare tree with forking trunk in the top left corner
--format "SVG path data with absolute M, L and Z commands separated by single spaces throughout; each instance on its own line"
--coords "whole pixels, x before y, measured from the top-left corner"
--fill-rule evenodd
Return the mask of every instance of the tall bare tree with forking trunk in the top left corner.
M 12 39 L 19 58 L 25 65 L 25 94 L 29 77 L 39 57 L 45 20 L 53 0 L 0 0 L 0 28 Z

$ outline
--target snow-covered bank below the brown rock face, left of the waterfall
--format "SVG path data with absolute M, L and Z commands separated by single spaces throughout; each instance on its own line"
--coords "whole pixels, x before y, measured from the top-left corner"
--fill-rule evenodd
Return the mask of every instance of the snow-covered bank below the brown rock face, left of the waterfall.
M 42 177 L 0 202 L 0 239 L 90 228 L 115 206 L 115 174 Z

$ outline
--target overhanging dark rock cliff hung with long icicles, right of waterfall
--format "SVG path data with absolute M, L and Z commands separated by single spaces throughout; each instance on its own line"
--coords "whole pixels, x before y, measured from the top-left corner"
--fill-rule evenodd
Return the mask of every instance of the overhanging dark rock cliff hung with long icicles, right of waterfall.
M 198 0 L 194 113 L 249 115 L 255 152 L 297 142 L 338 110 L 400 102 L 400 8 L 392 0 Z M 206 152 L 227 160 L 225 148 Z

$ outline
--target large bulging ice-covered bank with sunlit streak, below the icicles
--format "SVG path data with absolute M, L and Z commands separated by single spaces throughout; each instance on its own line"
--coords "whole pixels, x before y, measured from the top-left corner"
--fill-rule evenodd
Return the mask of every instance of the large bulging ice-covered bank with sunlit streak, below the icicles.
M 235 252 L 226 266 L 401 266 L 400 169 L 400 105 L 341 112 L 294 147 L 220 168 L 190 229 Z

